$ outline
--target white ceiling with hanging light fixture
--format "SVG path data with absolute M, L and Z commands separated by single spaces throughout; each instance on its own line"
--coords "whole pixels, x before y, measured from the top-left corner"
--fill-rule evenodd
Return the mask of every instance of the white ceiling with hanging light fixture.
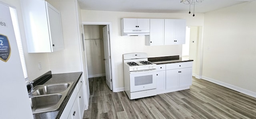
M 204 0 L 195 5 L 195 13 L 205 13 L 252 0 Z M 143 13 L 188 13 L 189 4 L 180 0 L 78 0 L 83 10 L 143 12 Z M 191 12 L 193 11 L 191 5 Z M 193 12 L 192 12 L 193 13 Z

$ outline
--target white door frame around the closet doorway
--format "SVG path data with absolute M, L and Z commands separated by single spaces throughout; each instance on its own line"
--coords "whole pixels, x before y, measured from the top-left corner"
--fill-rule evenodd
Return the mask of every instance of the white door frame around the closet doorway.
M 109 30 L 109 47 L 110 47 L 110 63 L 111 63 L 111 76 L 112 76 L 112 91 L 116 92 L 116 85 L 115 85 L 115 72 L 114 72 L 114 57 L 112 53 L 112 42 L 111 42 L 111 36 L 112 36 L 112 23 L 111 22 L 82 22 L 83 31 L 84 31 L 84 25 L 108 25 Z M 86 57 L 86 56 L 85 56 Z M 87 67 L 87 66 L 86 66 Z M 87 71 L 88 74 L 88 71 Z

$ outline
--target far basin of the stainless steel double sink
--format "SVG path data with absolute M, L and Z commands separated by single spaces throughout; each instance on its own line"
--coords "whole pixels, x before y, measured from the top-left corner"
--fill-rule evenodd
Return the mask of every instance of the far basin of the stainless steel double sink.
M 64 90 L 67 90 L 68 87 L 70 86 L 69 83 L 64 83 L 64 84 L 51 84 L 51 85 L 46 85 L 46 86 L 36 86 L 34 88 L 34 96 L 38 95 L 47 95 L 47 94 L 54 94 L 54 93 L 59 93 L 63 92 Z

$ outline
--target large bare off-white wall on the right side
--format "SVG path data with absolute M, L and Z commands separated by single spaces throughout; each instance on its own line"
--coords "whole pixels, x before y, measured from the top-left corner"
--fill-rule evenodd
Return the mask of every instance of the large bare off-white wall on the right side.
M 256 1 L 204 17 L 203 76 L 256 97 Z

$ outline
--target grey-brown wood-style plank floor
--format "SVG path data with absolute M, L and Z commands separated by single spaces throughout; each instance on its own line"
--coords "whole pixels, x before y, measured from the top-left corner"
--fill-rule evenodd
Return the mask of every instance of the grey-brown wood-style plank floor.
M 105 77 L 89 78 L 84 119 L 256 119 L 256 98 L 193 77 L 188 90 L 130 100 Z

